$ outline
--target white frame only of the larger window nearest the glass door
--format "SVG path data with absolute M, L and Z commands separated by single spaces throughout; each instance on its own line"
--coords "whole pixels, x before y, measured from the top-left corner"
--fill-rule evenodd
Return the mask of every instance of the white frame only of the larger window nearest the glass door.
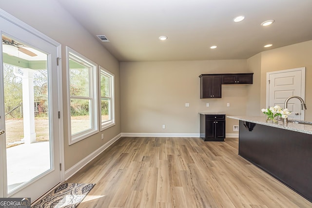
M 70 68 L 69 59 L 74 59 L 82 65 L 89 67 L 89 97 L 83 96 L 72 96 L 70 95 Z M 98 64 L 91 61 L 89 58 L 84 57 L 78 52 L 74 51 L 70 47 L 66 46 L 66 75 L 67 75 L 67 111 L 68 111 L 68 143 L 72 145 L 78 141 L 81 141 L 95 133 L 98 133 Z M 91 129 L 84 130 L 72 134 L 72 123 L 71 123 L 71 99 L 90 99 L 90 111 L 91 116 Z

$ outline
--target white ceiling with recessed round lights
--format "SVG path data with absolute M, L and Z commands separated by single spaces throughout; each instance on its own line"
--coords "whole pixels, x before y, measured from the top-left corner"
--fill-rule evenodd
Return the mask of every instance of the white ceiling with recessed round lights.
M 110 42 L 99 44 L 120 61 L 245 59 L 312 39 L 312 0 L 59 2 L 95 38 L 105 35 Z M 238 15 L 246 19 L 233 22 Z M 275 22 L 260 25 L 268 19 Z

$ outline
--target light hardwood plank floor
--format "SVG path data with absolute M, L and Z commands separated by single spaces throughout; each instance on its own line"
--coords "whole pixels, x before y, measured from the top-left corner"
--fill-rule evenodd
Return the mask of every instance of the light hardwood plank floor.
M 71 177 L 78 208 L 312 208 L 238 154 L 238 139 L 122 137 Z

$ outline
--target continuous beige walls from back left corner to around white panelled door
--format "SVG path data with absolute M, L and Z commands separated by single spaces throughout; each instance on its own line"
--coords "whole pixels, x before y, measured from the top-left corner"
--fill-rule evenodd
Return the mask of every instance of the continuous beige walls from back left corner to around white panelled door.
M 306 67 L 308 110 L 312 120 L 312 41 L 259 53 L 247 60 L 121 62 L 121 132 L 198 133 L 198 112 L 264 116 L 266 73 Z M 222 85 L 222 98 L 200 99 L 200 74 L 253 72 L 252 85 Z M 210 107 L 206 107 L 206 103 Z M 229 102 L 231 107 L 226 107 Z M 190 103 L 190 107 L 184 107 Z M 162 125 L 166 129 L 162 129 Z M 226 133 L 238 122 L 227 119 Z

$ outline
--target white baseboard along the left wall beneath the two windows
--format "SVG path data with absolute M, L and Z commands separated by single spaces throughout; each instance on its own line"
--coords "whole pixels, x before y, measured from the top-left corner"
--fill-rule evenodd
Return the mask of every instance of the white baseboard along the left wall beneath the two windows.
M 92 152 L 82 160 L 80 160 L 76 165 L 71 167 L 70 169 L 65 171 L 65 180 L 69 179 L 71 176 L 73 176 L 78 170 L 82 169 L 85 165 L 87 165 L 91 160 L 93 160 L 95 157 L 97 157 L 102 151 L 106 150 L 109 146 L 111 146 L 114 142 L 116 142 L 121 137 L 121 133 L 119 133 L 117 136 L 106 142 L 104 145 L 102 145 L 98 150 Z

